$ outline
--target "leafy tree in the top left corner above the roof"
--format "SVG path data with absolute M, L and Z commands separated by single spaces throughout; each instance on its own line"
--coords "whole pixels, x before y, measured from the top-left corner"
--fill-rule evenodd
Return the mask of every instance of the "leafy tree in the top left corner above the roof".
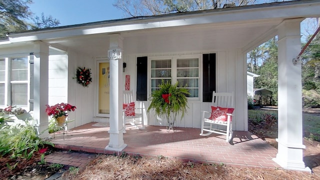
M 41 17 L 34 17 L 28 6 L 30 3 L 32 0 L 0 0 L 0 37 L 5 37 L 5 32 L 52 27 L 60 23 L 43 13 Z M 34 24 L 27 22 L 28 19 Z

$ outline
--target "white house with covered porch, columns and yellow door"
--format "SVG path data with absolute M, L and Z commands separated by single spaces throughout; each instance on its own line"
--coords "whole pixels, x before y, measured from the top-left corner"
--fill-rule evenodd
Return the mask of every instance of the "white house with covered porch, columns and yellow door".
M 156 83 L 171 78 L 188 82 L 192 92 L 178 126 L 199 128 L 200 110 L 209 110 L 211 92 L 233 91 L 233 129 L 246 131 L 246 53 L 278 35 L 280 130 L 274 160 L 284 168 L 304 170 L 301 65 L 292 59 L 300 51 L 301 20 L 320 16 L 319 9 L 319 0 L 296 0 L 8 33 L 0 40 L 0 103 L 32 110 L 40 131 L 48 125 L 48 103 L 76 105 L 69 127 L 109 117 L 106 148 L 121 150 L 126 146 L 123 77 L 129 75 L 136 105 L 144 107 Z M 88 87 L 73 79 L 79 66 L 91 68 Z M 159 125 L 153 113 L 145 113 L 144 119 Z

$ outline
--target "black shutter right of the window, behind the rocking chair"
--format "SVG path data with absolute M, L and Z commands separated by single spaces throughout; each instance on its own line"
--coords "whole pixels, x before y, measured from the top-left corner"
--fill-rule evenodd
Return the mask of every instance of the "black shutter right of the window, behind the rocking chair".
M 203 54 L 203 90 L 202 101 L 211 102 L 212 92 L 215 91 L 215 53 Z

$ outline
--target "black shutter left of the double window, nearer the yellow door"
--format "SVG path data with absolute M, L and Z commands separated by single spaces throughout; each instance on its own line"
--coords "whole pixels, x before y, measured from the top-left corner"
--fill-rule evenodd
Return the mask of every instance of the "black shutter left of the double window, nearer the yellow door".
M 136 100 L 147 100 L 147 57 L 136 58 Z

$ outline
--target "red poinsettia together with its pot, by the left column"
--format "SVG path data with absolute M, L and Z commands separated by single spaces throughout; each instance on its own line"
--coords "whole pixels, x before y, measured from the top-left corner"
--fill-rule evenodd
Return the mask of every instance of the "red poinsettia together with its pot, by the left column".
M 63 126 L 68 112 L 71 110 L 74 111 L 75 108 L 76 107 L 74 105 L 63 102 L 51 106 L 46 104 L 45 112 L 55 119 L 58 126 Z

